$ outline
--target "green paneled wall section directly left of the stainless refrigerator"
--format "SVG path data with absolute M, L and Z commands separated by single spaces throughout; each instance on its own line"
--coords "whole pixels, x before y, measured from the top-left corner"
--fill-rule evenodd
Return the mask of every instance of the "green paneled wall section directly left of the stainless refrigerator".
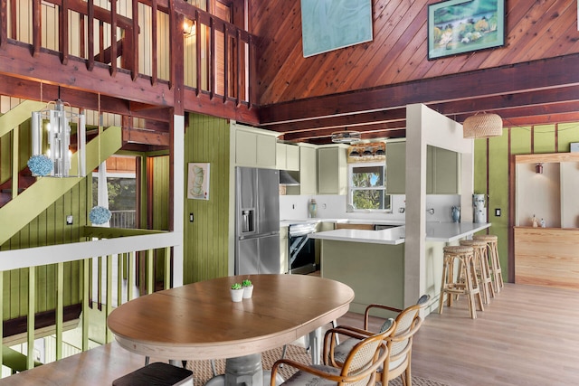
M 230 124 L 222 118 L 190 114 L 185 128 L 185 189 L 187 164 L 208 162 L 209 200 L 192 200 L 185 194 L 184 283 L 227 275 L 229 221 Z M 194 222 L 189 222 L 194 213 Z

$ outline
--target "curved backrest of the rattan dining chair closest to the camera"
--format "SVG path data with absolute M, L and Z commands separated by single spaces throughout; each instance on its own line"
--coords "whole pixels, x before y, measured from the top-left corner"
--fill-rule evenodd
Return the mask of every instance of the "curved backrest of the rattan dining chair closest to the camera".
M 394 333 L 395 321 L 388 319 L 384 325 L 389 325 L 384 332 L 371 335 L 358 342 L 347 354 L 342 366 L 341 375 L 346 377 L 338 385 L 366 386 L 375 381 L 377 368 L 388 361 L 388 348 L 384 340 Z

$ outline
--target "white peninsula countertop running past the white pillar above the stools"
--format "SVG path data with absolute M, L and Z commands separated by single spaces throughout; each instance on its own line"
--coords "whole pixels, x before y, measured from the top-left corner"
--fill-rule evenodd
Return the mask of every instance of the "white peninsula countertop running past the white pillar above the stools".
M 381 221 L 374 221 L 380 222 Z M 389 222 L 389 221 L 384 221 Z M 426 240 L 451 242 L 460 240 L 475 232 L 489 228 L 490 223 L 474 222 L 426 222 Z M 404 242 L 405 227 L 399 226 L 382 231 L 335 230 L 321 231 L 308 235 L 311 239 L 371 242 L 376 244 L 398 245 Z

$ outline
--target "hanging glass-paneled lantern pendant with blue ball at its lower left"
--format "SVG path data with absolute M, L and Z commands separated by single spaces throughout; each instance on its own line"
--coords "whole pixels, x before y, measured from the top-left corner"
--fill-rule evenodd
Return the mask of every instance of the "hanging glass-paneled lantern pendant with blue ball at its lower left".
M 53 104 L 53 108 L 48 108 Z M 76 165 L 73 165 L 71 122 L 76 123 Z M 86 119 L 84 114 L 64 110 L 61 99 L 48 104 L 47 109 L 33 111 L 33 156 L 28 161 L 35 175 L 52 177 L 86 176 Z M 43 127 L 47 130 L 47 146 L 43 153 Z M 75 166 L 75 167 L 72 167 Z

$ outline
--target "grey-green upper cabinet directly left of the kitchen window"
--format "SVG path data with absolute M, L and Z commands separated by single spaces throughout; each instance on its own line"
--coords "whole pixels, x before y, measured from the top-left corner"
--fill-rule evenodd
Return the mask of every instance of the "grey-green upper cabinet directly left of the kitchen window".
M 318 194 L 346 194 L 346 147 L 318 148 Z

